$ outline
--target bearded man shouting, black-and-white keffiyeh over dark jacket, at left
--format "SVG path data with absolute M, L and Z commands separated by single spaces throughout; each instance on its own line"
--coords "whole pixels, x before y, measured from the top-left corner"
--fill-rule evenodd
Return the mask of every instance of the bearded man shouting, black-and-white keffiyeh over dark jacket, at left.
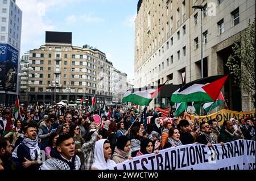
M 26 170 L 38 170 L 40 167 L 40 150 L 44 150 L 43 145 L 38 142 L 36 134 L 36 124 L 28 124 L 25 128 L 25 137 L 18 146 L 17 157 L 20 168 Z

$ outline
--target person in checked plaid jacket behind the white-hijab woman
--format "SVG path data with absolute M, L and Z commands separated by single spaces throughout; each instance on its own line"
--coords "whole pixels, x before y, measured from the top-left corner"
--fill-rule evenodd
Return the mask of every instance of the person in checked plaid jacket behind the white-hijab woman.
M 102 136 L 98 134 L 98 126 L 90 125 L 89 134 L 85 138 L 85 144 L 82 145 L 82 154 L 84 154 L 84 164 L 82 164 L 82 170 L 90 170 L 94 162 L 94 145 L 96 141 L 101 140 Z

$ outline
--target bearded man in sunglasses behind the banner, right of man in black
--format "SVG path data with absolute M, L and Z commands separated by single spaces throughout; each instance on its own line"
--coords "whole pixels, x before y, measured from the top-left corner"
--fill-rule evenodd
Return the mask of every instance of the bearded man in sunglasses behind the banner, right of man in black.
M 214 136 L 212 134 L 212 127 L 205 121 L 200 123 L 200 131 L 202 134 L 197 137 L 196 142 L 199 144 L 204 144 L 208 146 L 212 146 L 212 144 L 217 144 L 217 140 L 214 139 Z M 223 142 L 220 142 L 221 145 L 223 145 Z

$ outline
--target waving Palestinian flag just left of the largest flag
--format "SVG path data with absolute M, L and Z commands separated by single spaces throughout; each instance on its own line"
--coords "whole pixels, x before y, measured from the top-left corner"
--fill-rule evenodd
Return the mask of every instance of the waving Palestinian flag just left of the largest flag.
M 156 94 L 158 94 L 165 84 L 166 82 L 159 86 L 127 90 L 125 95 L 123 95 L 122 102 L 131 102 L 138 104 L 139 106 L 148 106 L 151 100 L 155 98 Z

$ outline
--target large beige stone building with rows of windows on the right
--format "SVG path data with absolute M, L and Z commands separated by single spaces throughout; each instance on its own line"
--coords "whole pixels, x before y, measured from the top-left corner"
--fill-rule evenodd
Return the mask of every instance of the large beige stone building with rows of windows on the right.
M 200 9 L 203 6 L 203 75 L 229 74 L 225 64 L 239 39 L 255 18 L 255 1 L 162 0 L 138 1 L 135 20 L 135 87 L 180 85 L 201 78 Z M 228 108 L 253 109 L 248 95 L 230 75 L 222 89 Z M 171 96 L 171 92 L 170 92 Z M 168 97 L 170 100 L 170 97 Z M 155 100 L 150 104 L 162 105 Z

